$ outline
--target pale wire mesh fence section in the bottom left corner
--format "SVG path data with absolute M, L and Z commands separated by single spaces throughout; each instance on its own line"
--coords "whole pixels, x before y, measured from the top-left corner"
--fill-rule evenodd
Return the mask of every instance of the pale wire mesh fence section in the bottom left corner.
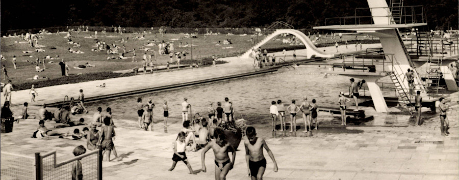
M 35 179 L 35 158 L 0 152 L 0 179 Z

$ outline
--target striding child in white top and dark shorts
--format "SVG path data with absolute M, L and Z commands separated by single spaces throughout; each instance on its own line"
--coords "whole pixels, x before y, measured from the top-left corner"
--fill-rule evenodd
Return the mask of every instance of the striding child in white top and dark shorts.
M 185 137 L 186 134 L 184 132 L 180 132 L 179 135 L 177 135 L 177 139 L 174 142 L 174 155 L 172 157 L 172 167 L 169 168 L 169 171 L 174 170 L 177 161 L 183 161 L 190 170 L 190 174 L 196 174 L 193 172 L 193 169 L 191 168 L 191 165 L 187 160 L 187 155 L 185 154 L 185 146 L 188 144 L 188 141 L 186 141 Z

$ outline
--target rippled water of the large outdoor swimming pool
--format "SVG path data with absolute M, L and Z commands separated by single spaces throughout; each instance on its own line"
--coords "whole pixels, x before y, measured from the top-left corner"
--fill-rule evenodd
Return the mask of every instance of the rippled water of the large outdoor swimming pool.
M 224 102 L 228 97 L 233 102 L 235 117 L 245 119 L 268 118 L 271 101 L 282 100 L 288 106 L 291 100 L 296 100 L 299 106 L 302 97 L 307 96 L 308 101 L 316 99 L 317 105 L 325 107 L 338 106 L 339 92 L 348 92 L 349 77 L 317 73 L 317 66 L 297 66 L 294 70 L 281 71 L 257 76 L 249 76 L 232 80 L 225 80 L 207 84 L 172 89 L 149 94 L 109 99 L 94 103 L 87 103 L 88 109 L 111 107 L 114 118 L 137 119 L 137 98 L 142 98 L 143 103 L 151 98 L 155 103 L 154 119 L 163 119 L 164 101 L 169 106 L 169 117 L 182 118 L 181 111 L 183 98 L 188 98 L 192 105 L 193 114 L 196 112 L 207 116 L 209 102 L 217 107 L 217 102 Z M 311 74 L 313 73 L 313 74 Z M 353 103 L 351 103 L 353 104 Z

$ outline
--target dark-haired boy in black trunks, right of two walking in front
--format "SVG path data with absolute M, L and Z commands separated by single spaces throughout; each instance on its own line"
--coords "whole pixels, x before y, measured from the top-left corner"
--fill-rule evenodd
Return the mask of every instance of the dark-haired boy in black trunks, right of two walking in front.
M 245 133 L 247 135 L 247 140 L 244 141 L 245 160 L 247 161 L 247 173 L 252 180 L 263 179 L 263 174 L 266 169 L 266 159 L 263 155 L 263 148 L 266 149 L 266 152 L 268 152 L 269 157 L 274 163 L 274 172 L 277 172 L 276 160 L 268 144 L 266 144 L 266 141 L 261 137 L 257 137 L 255 128 L 251 126 L 247 127 Z

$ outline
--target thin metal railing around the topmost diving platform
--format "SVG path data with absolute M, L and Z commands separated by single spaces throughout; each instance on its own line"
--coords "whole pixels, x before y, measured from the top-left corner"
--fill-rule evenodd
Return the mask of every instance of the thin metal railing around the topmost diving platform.
M 425 17 L 425 11 L 424 11 L 423 6 L 398 6 L 398 7 L 380 7 L 380 8 L 356 8 L 354 9 L 354 16 L 325 18 L 325 25 L 374 24 L 373 18 L 386 18 L 388 25 L 394 24 L 395 21 L 391 14 L 391 8 L 402 9 L 402 14 L 397 15 L 397 17 L 400 17 L 400 24 L 427 23 L 427 19 Z M 374 10 L 386 11 L 388 15 L 386 16 L 369 15 L 371 14 L 371 11 L 374 11 Z M 364 14 L 364 15 L 360 15 L 360 14 Z

